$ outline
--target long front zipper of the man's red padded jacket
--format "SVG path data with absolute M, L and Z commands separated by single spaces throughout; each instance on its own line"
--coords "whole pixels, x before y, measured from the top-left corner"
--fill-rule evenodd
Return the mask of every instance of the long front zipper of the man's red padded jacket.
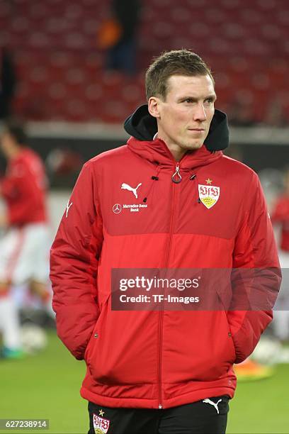
M 171 239 L 173 235 L 173 226 L 174 226 L 174 207 L 175 207 L 175 194 L 176 194 L 176 184 L 181 182 L 181 174 L 179 173 L 180 165 L 179 162 L 176 162 L 176 172 L 172 175 L 171 180 L 173 182 L 172 185 L 172 201 L 171 201 L 171 221 L 170 221 L 170 229 L 169 229 L 169 243 L 167 248 L 165 269 L 167 269 L 169 265 L 169 257 L 171 253 Z M 178 176 L 177 181 L 174 181 L 174 177 Z M 158 369 L 158 377 L 159 377 L 159 409 L 162 409 L 162 335 L 163 335 L 163 321 L 164 321 L 164 309 L 159 313 L 159 369 Z

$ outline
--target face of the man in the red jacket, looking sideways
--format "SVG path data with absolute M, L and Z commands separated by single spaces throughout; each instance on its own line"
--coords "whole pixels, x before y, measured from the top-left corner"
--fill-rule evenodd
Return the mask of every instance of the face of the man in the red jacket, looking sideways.
M 158 137 L 169 149 L 183 154 L 200 148 L 208 135 L 216 99 L 209 75 L 173 75 L 167 82 L 166 99 L 152 98 L 150 113 L 157 117 Z

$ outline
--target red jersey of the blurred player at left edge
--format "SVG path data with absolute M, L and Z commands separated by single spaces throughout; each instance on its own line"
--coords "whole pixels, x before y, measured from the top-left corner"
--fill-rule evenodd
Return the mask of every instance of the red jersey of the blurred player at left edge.
M 21 226 L 47 221 L 45 196 L 47 179 L 40 157 L 30 148 L 8 162 L 1 179 L 1 194 L 8 208 L 8 223 Z

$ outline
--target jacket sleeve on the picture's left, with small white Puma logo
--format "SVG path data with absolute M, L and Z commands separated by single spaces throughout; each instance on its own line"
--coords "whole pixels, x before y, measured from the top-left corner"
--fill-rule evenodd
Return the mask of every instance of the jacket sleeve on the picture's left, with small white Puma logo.
M 96 277 L 102 245 L 102 221 L 91 163 L 72 191 L 50 252 L 52 307 L 57 334 L 77 359 L 99 315 Z

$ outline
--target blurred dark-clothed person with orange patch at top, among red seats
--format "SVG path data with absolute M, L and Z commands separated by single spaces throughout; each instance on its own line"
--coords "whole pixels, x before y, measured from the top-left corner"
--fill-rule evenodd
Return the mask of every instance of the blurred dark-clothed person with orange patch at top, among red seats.
M 141 0 L 112 0 L 111 18 L 98 33 L 99 48 L 107 49 L 106 69 L 128 75 L 137 72 L 137 31 Z

